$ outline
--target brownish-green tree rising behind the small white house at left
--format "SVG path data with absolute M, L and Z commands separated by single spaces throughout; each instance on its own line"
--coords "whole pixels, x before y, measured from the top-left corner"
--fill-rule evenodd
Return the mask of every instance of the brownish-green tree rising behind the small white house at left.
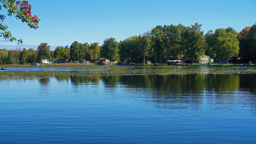
M 47 43 L 42 42 L 37 50 L 37 62 L 41 63 L 42 59 L 50 60 L 50 46 Z

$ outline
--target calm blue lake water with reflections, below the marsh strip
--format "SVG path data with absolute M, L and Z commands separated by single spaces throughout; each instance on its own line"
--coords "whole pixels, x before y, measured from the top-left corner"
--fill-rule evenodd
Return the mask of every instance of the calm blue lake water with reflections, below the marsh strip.
M 0 143 L 256 143 L 256 75 L 0 80 Z

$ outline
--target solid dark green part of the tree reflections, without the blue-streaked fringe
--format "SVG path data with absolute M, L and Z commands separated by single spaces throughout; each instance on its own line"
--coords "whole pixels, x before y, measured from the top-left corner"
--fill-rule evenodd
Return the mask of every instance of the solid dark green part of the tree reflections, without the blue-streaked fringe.
M 127 88 L 147 88 L 157 91 L 158 96 L 181 96 L 192 94 L 201 96 L 205 90 L 214 94 L 233 94 L 235 91 L 251 91 L 256 93 L 256 75 L 135 75 L 135 76 L 58 76 L 58 81 L 71 81 L 75 86 L 80 84 L 99 84 L 100 80 L 105 87 L 115 88 L 123 85 Z M 49 83 L 48 78 L 41 78 L 40 83 Z M 221 96 L 221 95 L 218 95 Z

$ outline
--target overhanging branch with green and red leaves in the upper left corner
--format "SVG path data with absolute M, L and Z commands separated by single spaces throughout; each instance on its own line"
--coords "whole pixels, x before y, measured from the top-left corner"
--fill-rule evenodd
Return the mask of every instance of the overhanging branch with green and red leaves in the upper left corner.
M 31 5 L 29 1 L 16 1 L 16 0 L 0 0 L 0 10 L 3 8 L 7 10 L 7 15 L 14 15 L 17 19 L 20 19 L 23 23 L 27 23 L 31 29 L 39 28 L 39 18 L 37 15 L 31 15 Z M 6 15 L 0 13 L 0 37 L 4 39 L 15 41 L 15 37 L 12 37 L 10 31 L 8 31 L 8 26 L 4 24 Z M 18 43 L 22 43 L 19 39 Z

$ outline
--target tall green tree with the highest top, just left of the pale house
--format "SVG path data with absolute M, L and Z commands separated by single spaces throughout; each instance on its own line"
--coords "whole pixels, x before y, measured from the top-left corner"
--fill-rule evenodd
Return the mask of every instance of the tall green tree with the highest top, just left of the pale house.
M 206 50 L 206 37 L 201 31 L 201 26 L 195 23 L 184 32 L 183 53 L 192 63 L 199 61 L 200 56 L 203 56 Z

